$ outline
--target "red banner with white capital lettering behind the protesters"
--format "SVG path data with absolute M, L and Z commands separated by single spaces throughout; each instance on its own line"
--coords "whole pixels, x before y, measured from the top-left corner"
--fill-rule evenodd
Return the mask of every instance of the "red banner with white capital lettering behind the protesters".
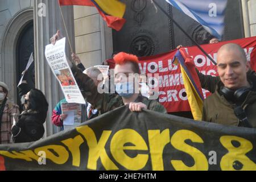
M 217 62 L 218 49 L 227 43 L 239 44 L 250 61 L 251 68 L 256 71 L 256 36 L 251 38 L 230 40 L 216 44 L 205 44 L 201 47 Z M 217 76 L 216 66 L 196 46 L 187 47 L 188 53 L 201 73 Z M 180 67 L 172 64 L 176 50 L 155 56 L 140 57 L 139 67 L 142 73 L 159 74 L 159 102 L 166 107 L 168 112 L 191 110 L 187 101 Z M 112 59 L 107 60 L 110 68 L 114 68 Z M 209 95 L 204 90 L 204 97 Z

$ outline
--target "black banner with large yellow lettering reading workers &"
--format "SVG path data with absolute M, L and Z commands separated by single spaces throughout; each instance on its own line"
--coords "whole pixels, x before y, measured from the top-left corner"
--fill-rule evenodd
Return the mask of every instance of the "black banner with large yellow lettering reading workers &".
M 256 129 L 123 106 L 37 142 L 0 145 L 0 170 L 256 170 Z

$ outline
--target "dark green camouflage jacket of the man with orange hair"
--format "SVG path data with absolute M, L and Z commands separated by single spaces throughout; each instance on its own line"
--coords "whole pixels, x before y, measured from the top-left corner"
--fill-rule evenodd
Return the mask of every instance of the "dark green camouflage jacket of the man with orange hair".
M 98 93 L 97 86 L 94 84 L 93 80 L 76 67 L 72 67 L 72 72 L 76 78 L 79 88 L 82 89 L 82 95 L 88 102 L 90 102 L 90 104 L 98 109 L 99 114 L 104 114 L 124 105 L 122 97 L 118 96 L 117 94 Z M 148 110 L 157 111 L 159 113 L 167 113 L 164 106 L 159 104 L 158 101 L 148 100 L 146 97 L 141 95 L 139 95 L 135 102 L 142 102 L 147 106 Z

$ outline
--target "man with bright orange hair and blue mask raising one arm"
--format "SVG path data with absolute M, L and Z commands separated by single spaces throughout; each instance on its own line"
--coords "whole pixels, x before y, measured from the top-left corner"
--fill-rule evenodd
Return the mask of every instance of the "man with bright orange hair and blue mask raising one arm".
M 100 114 L 123 105 L 129 105 L 131 111 L 149 109 L 167 113 L 158 101 L 148 100 L 141 93 L 136 92 L 136 88 L 139 88 L 139 78 L 135 75 L 140 73 L 137 56 L 121 52 L 114 56 L 114 61 L 115 91 L 118 94 L 99 93 L 97 86 L 89 76 L 82 73 L 75 65 L 72 67 L 77 84 L 84 89 L 83 96 L 98 109 Z

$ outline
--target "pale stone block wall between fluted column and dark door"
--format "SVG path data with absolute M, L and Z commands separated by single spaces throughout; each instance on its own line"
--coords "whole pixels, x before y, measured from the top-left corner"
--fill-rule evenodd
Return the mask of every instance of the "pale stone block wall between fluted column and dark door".
M 101 64 L 113 53 L 112 28 L 95 7 L 74 6 L 76 53 L 85 68 Z

